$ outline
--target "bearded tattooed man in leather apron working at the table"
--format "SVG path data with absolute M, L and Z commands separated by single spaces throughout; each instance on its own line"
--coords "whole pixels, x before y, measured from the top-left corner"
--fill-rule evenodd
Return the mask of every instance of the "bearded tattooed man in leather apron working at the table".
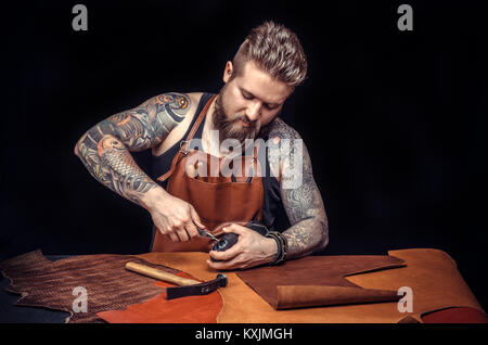
M 234 233 L 235 244 L 209 251 L 210 268 L 245 269 L 309 255 L 328 245 L 328 219 L 307 149 L 279 118 L 306 74 L 297 36 L 266 22 L 227 62 L 218 94 L 152 98 L 95 125 L 79 139 L 75 154 L 97 180 L 147 209 L 152 251 L 208 252 L 211 242 L 202 234 Z M 230 139 L 243 149 L 239 155 L 222 144 Z M 249 145 L 254 139 L 261 144 Z M 191 149 L 195 140 L 201 148 Z M 130 154 L 147 149 L 150 173 Z M 296 176 L 299 183 L 290 183 Z M 273 227 L 280 206 L 288 229 Z M 267 230 L 256 231 L 247 226 L 252 222 Z

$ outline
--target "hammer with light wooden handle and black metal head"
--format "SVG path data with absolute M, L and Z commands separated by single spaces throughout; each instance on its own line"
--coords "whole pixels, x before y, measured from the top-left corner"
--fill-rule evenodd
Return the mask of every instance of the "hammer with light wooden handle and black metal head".
M 126 269 L 180 285 L 178 288 L 166 288 L 166 299 L 194 295 L 206 295 L 213 291 L 216 291 L 218 288 L 227 286 L 227 276 L 223 273 L 217 274 L 216 279 L 214 280 L 200 282 L 194 279 L 178 277 L 176 274 L 162 271 L 157 268 L 149 267 L 134 261 L 127 263 Z

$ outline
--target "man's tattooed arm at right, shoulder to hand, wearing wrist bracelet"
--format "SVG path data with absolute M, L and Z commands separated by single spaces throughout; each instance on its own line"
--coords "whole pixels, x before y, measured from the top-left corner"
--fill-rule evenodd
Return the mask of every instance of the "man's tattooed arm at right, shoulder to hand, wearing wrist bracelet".
M 320 191 L 313 180 L 307 148 L 305 144 L 295 145 L 301 143 L 298 133 L 277 118 L 264 128 L 264 137 L 268 136 L 271 138 L 270 142 L 275 144 L 268 150 L 270 168 L 280 180 L 282 203 L 292 223 L 292 227 L 283 232 L 288 243 L 286 258 L 298 258 L 328 245 L 328 218 Z M 288 150 L 285 142 L 290 143 Z M 236 223 L 228 226 L 223 232 L 239 234 L 239 241 L 224 252 L 210 252 L 210 257 L 217 260 L 207 260 L 207 265 L 213 269 L 249 268 L 269 264 L 277 256 L 278 245 L 273 239 L 265 238 Z

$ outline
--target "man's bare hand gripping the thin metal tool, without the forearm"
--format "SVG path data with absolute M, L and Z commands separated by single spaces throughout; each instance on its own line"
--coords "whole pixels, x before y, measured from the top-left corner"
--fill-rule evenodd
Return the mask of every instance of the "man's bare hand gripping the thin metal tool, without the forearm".
M 144 199 L 146 199 L 144 204 L 151 213 L 154 225 L 172 242 L 185 242 L 197 237 L 196 227 L 205 229 L 191 204 L 172 196 L 164 189 L 153 189 L 146 193 Z

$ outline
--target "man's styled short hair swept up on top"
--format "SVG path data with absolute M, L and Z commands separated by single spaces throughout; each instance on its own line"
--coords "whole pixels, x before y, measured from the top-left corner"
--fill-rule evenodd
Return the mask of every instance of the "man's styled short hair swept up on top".
M 300 85 L 307 75 L 307 56 L 298 37 L 273 22 L 266 22 L 251 30 L 232 60 L 232 77 L 240 75 L 249 61 L 291 87 Z

